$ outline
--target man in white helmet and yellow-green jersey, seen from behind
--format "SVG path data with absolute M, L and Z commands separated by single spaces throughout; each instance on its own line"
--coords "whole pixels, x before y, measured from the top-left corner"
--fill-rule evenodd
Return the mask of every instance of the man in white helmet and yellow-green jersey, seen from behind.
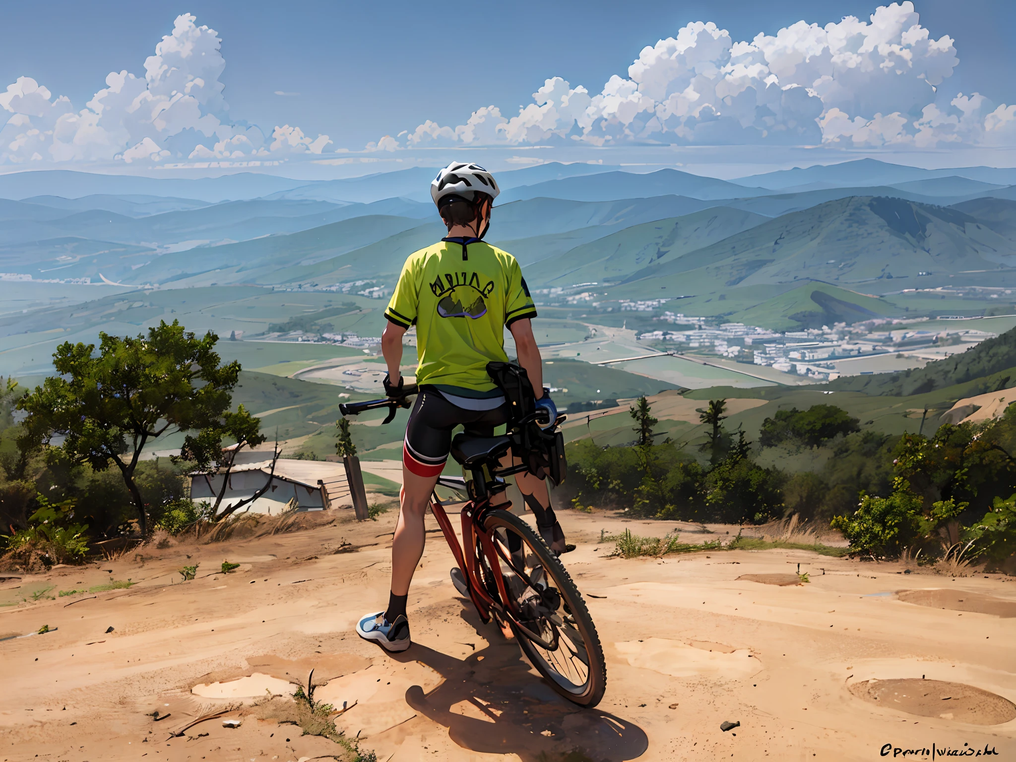
M 453 162 L 438 173 L 431 197 L 448 236 L 409 255 L 385 310 L 388 324 L 381 336 L 388 365 L 385 393 L 403 396 L 402 336 L 412 325 L 420 387 L 402 447 L 401 511 L 392 543 L 388 608 L 357 624 L 361 637 L 389 651 L 402 651 L 410 644 L 405 601 L 424 553 L 424 516 L 448 459 L 452 431 L 463 426 L 467 434 L 491 437 L 510 418 L 504 394 L 487 374 L 488 363 L 508 360 L 505 327 L 515 339 L 518 364 L 532 383 L 537 408 L 546 408 L 552 423 L 557 418 L 544 390 L 530 322 L 536 310 L 521 269 L 513 256 L 483 241 L 499 193 L 491 173 L 478 165 Z M 563 553 L 565 536 L 547 485 L 531 473 L 519 473 L 516 484 L 545 542 L 555 553 Z M 452 570 L 452 581 L 464 592 L 460 570 Z

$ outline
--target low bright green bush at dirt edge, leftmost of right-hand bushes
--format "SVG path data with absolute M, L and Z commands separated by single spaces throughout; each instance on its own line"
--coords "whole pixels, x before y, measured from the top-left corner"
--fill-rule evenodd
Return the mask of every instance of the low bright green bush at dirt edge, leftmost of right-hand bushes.
M 895 558 L 920 535 L 922 501 L 903 489 L 888 498 L 866 495 L 853 515 L 836 516 L 831 525 L 843 532 L 851 553 Z

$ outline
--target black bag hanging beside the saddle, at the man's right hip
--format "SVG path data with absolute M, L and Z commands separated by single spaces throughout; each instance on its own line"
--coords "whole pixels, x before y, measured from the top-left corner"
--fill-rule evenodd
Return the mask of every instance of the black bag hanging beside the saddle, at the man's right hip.
M 556 427 L 544 430 L 531 420 L 536 411 L 536 394 L 525 368 L 512 363 L 488 363 L 487 374 L 504 392 L 511 408 L 508 430 L 516 442 L 513 454 L 521 459 L 529 473 L 537 479 L 549 479 L 555 487 L 560 485 L 568 469 L 564 437 Z M 526 419 L 530 420 L 526 422 Z

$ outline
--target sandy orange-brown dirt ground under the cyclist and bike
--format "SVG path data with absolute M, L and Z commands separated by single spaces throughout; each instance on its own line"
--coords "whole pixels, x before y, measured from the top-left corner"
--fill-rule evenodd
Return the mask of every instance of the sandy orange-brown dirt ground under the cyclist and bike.
M 439 533 L 410 590 L 414 645 L 389 655 L 359 639 L 356 620 L 387 601 L 395 512 L 360 524 L 343 513 L 0 581 L 4 599 L 28 598 L 0 608 L 0 638 L 50 628 L 0 641 L 0 762 L 329 759 L 335 743 L 251 706 L 311 668 L 326 683 L 315 698 L 344 703 L 335 724 L 380 762 L 932 759 L 933 744 L 1016 759 L 1016 578 L 805 551 L 606 558 L 601 529 L 675 524 L 562 514 L 578 546 L 564 558 L 607 654 L 595 709 L 558 698 L 479 621 Z M 729 531 L 710 528 L 682 537 Z M 223 574 L 224 560 L 241 565 Z M 177 570 L 194 564 L 183 582 Z M 810 581 L 792 584 L 799 564 Z M 136 584 L 58 595 L 111 577 Z

